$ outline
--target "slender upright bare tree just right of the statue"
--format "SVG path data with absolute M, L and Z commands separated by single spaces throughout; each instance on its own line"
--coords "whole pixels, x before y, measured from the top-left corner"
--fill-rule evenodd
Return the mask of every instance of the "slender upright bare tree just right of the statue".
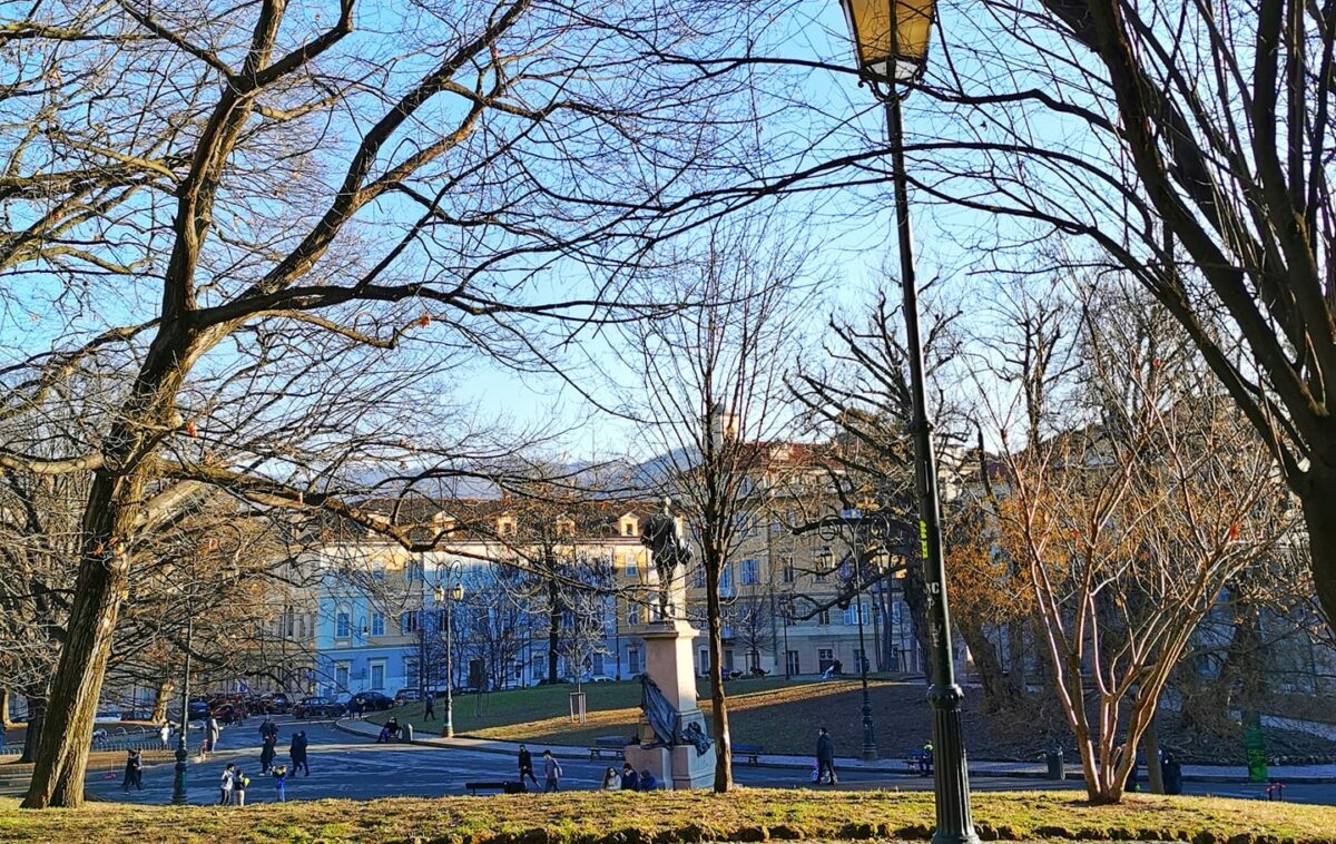
M 800 341 L 803 252 L 764 227 L 716 227 L 699 252 L 660 283 L 683 300 L 708 302 L 637 325 L 644 397 L 636 410 L 645 442 L 663 453 L 652 481 L 685 514 L 704 570 L 715 791 L 732 787 L 724 693 L 720 581 L 744 526 L 768 505 L 772 439 L 788 422 L 783 361 Z

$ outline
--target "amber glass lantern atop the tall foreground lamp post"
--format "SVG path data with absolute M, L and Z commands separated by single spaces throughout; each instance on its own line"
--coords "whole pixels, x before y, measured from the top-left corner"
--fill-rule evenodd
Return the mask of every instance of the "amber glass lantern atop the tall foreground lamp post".
M 858 69 L 878 83 L 912 81 L 927 64 L 937 0 L 840 0 Z

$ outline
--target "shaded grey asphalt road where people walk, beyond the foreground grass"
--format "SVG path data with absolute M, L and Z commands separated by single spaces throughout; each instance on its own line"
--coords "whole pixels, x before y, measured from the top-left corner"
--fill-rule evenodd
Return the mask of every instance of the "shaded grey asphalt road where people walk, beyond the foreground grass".
M 242 767 L 251 777 L 246 793 L 247 803 L 274 800 L 274 783 L 259 776 L 259 724 L 250 718 L 223 732 L 218 753 L 198 764 L 194 757 L 188 771 L 191 803 L 218 800 L 218 779 L 227 763 Z M 403 744 L 375 744 L 370 738 L 351 736 L 334 728 L 330 721 L 294 721 L 275 718 L 279 724 L 279 764 L 289 764 L 287 743 L 297 729 L 305 729 L 310 738 L 310 776 L 289 777 L 289 800 L 318 800 L 346 797 L 370 800 L 374 797 L 437 797 L 468 793 L 464 784 L 473 780 L 514 779 L 516 764 L 510 756 L 478 751 L 440 749 Z M 541 769 L 541 745 L 530 745 L 536 767 Z M 603 781 L 607 763 L 588 760 L 561 760 L 565 771 L 564 789 L 595 789 Z M 808 787 L 810 773 L 790 768 L 736 765 L 736 781 L 741 785 L 768 788 Z M 87 791 L 107 800 L 163 804 L 171 800 L 172 764 L 151 765 L 144 769 L 144 789 L 128 795 L 120 791 L 118 772 L 90 772 Z M 1078 781 L 1062 784 L 1030 777 L 974 777 L 973 791 L 1026 791 L 1065 788 L 1079 791 Z M 931 789 L 931 777 L 910 775 L 870 775 L 860 779 L 842 777 L 840 789 Z M 1186 783 L 1189 795 L 1217 797 L 1264 799 L 1260 785 Z M 1285 800 L 1336 805 L 1336 785 L 1291 785 Z

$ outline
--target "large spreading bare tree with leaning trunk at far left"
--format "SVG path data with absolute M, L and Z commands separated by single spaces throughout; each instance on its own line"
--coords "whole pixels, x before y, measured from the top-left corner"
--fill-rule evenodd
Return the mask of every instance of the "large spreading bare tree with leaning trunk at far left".
M 41 8 L 55 17 L 0 39 L 13 79 L 51 83 L 35 142 L 4 142 L 16 187 L 0 202 L 7 219 L 59 214 L 5 231 L 0 271 L 7 290 L 37 279 L 20 304 L 55 311 L 49 347 L 4 370 L 0 415 L 72 370 L 134 375 L 83 397 L 102 413 L 77 443 L 0 447 L 4 467 L 91 473 L 32 808 L 83 800 L 143 521 L 203 485 L 414 545 L 347 502 L 373 465 L 418 481 L 469 470 L 466 419 L 405 425 L 433 406 L 414 398 L 432 395 L 414 389 L 428 373 L 478 355 L 550 369 L 556 343 L 663 310 L 623 295 L 624 270 L 647 259 L 647 234 L 671 234 L 659 220 L 683 210 L 679 179 L 701 184 L 688 174 L 716 152 L 736 163 L 721 152 L 736 84 L 647 52 L 708 51 L 748 25 L 713 4 L 663 20 L 631 3 L 433 1 L 362 31 L 355 0 L 334 15 L 282 0 Z M 60 128 L 76 123 L 94 136 Z M 57 258 L 60 272 L 35 272 Z M 562 262 L 589 280 L 548 295 Z

